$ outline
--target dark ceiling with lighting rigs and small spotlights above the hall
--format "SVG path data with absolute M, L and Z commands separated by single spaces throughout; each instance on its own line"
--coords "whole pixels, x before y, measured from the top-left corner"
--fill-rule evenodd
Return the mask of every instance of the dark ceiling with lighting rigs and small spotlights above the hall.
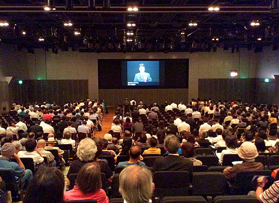
M 110 8 L 103 8 L 108 0 L 96 0 L 94 10 L 88 10 L 88 0 L 73 0 L 73 8 L 66 10 L 66 1 L 70 0 L 56 0 L 55 11 L 44 11 L 44 0 L 0 0 L 0 21 L 10 24 L 0 27 L 1 42 L 16 44 L 18 50 L 66 51 L 74 47 L 85 52 L 168 52 L 211 51 L 216 47 L 260 51 L 263 46 L 276 49 L 279 41 L 278 0 L 110 0 Z M 127 11 L 132 3 L 138 5 L 137 12 Z M 218 6 L 220 11 L 208 11 L 209 6 Z M 256 20 L 260 25 L 251 26 Z M 65 27 L 65 21 L 73 26 Z M 191 21 L 198 25 L 189 26 Z M 136 26 L 128 29 L 127 22 Z M 81 35 L 75 36 L 75 30 Z M 133 41 L 126 42 L 130 30 L 134 32 Z M 40 37 L 45 40 L 38 41 Z

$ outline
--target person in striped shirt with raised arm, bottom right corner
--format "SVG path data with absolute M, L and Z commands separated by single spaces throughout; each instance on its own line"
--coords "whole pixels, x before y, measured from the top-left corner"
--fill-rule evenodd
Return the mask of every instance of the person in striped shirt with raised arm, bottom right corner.
M 256 197 L 264 203 L 276 203 L 279 200 L 279 181 L 275 181 L 264 191 L 265 184 L 268 182 L 265 176 L 257 179 Z

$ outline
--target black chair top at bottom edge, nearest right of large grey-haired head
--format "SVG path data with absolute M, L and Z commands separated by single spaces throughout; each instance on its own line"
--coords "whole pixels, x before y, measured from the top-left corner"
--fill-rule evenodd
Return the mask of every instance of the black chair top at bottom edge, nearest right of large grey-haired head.
M 207 203 L 202 196 L 168 196 L 161 200 L 161 203 Z

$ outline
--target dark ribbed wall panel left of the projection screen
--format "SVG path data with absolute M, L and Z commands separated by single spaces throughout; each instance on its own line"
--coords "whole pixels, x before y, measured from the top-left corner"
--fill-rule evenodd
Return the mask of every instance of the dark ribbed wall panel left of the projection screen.
M 23 80 L 22 84 L 12 81 L 9 84 L 11 102 L 56 101 L 88 98 L 88 80 Z

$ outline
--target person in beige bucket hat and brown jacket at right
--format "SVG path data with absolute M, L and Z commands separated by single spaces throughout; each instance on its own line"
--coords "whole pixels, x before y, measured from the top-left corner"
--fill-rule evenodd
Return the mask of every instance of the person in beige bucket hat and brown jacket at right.
M 226 167 L 223 172 L 226 179 L 233 180 L 239 171 L 263 170 L 263 164 L 255 162 L 255 158 L 259 155 L 259 153 L 253 143 L 242 143 L 242 145 L 237 149 L 237 154 L 243 159 L 243 162 L 235 164 L 232 167 Z

